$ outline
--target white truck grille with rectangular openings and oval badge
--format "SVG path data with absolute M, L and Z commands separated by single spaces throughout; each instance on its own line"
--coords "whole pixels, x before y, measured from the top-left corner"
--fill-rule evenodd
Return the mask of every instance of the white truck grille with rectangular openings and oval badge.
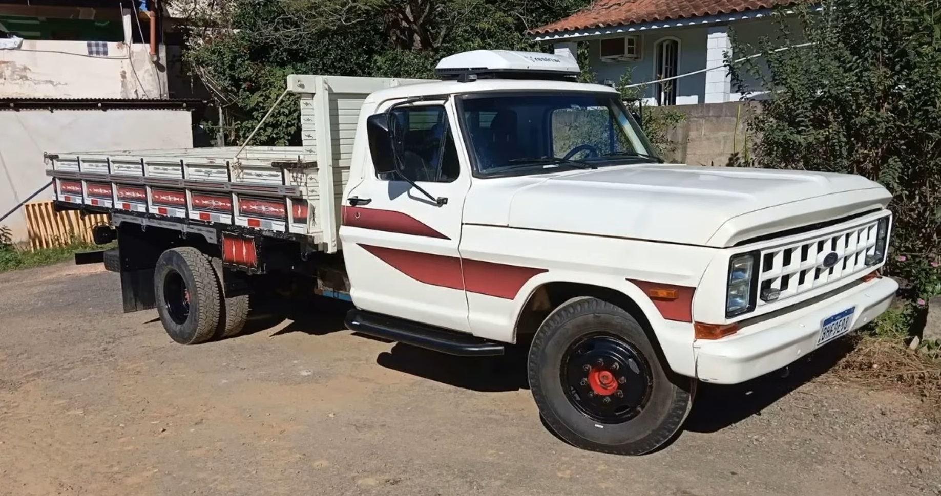
M 865 271 L 866 257 L 875 251 L 878 224 L 879 219 L 875 219 L 862 226 L 761 250 L 757 306 L 797 296 Z M 836 262 L 829 264 L 834 257 Z M 765 301 L 762 296 L 774 293 L 769 289 L 780 291 L 780 295 Z

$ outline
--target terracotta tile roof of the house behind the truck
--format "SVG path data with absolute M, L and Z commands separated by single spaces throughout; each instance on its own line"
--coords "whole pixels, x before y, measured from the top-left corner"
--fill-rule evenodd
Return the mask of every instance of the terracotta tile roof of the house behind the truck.
M 781 0 L 597 0 L 561 21 L 538 27 L 531 34 L 576 31 L 593 27 L 650 23 L 706 15 L 770 8 Z

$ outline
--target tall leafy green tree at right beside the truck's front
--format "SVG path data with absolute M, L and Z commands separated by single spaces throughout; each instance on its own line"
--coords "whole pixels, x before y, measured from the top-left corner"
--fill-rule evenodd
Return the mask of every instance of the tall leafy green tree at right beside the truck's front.
M 894 195 L 889 273 L 914 285 L 913 299 L 941 294 L 941 4 L 818 5 L 798 8 L 796 32 L 782 22 L 746 50 L 763 53 L 763 63 L 733 66 L 740 91 L 768 91 L 748 122 L 754 163 L 885 185 Z M 774 51 L 780 46 L 788 49 Z M 761 88 L 743 84 L 744 74 Z

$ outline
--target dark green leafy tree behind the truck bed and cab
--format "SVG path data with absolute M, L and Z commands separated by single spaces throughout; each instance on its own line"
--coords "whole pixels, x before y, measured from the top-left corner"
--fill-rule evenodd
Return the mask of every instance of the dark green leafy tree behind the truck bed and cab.
M 527 38 L 528 29 L 587 3 L 229 0 L 200 10 L 192 24 L 212 27 L 194 29 L 195 49 L 186 59 L 230 113 L 227 141 L 241 142 L 278 98 L 287 74 L 430 78 L 442 56 L 484 48 L 539 50 Z M 296 143 L 297 112 L 290 101 L 280 105 L 253 140 Z

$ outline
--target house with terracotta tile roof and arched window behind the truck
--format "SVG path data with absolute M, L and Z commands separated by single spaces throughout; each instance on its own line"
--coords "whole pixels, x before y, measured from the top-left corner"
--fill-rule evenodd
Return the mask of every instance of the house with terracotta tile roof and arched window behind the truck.
M 746 95 L 732 86 L 725 65 L 735 46 L 756 45 L 777 29 L 773 8 L 792 0 L 597 0 L 590 7 L 530 32 L 560 55 L 587 43 L 598 81 L 649 82 L 650 104 L 734 102 Z M 689 74 L 689 75 L 683 75 Z M 676 79 L 657 82 L 664 78 Z M 745 81 L 750 88 L 758 81 Z

